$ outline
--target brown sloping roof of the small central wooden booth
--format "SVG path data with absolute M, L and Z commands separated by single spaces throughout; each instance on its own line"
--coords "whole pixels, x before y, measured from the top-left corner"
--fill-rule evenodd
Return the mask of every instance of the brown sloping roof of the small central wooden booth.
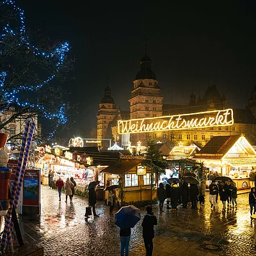
M 102 173 L 111 173 L 111 174 L 124 174 L 131 170 L 134 166 L 140 164 L 142 160 L 124 160 L 120 163 L 111 164 L 106 169 L 100 171 Z

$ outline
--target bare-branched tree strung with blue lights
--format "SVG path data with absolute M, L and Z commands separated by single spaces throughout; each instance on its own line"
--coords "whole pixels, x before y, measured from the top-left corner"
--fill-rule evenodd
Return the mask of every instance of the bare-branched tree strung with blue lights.
M 0 129 L 8 129 L 13 120 L 41 117 L 56 127 L 67 122 L 61 88 L 53 79 L 65 79 L 72 60 L 67 59 L 67 42 L 51 42 L 38 29 L 25 26 L 24 11 L 14 1 L 0 2 L 0 113 L 15 108 L 1 118 Z

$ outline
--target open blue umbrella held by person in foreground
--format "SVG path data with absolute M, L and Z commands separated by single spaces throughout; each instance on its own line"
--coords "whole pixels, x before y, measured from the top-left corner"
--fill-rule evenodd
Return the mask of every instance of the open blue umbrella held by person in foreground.
M 115 214 L 115 225 L 120 228 L 133 228 L 140 218 L 140 209 L 134 205 L 123 206 Z

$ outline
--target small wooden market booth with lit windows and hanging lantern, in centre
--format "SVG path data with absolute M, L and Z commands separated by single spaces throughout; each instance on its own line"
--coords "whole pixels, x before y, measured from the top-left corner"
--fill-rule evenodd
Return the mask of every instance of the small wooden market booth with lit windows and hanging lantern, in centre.
M 109 180 L 109 185 L 118 184 L 120 179 L 124 180 L 122 186 L 124 188 L 125 202 L 138 202 L 150 200 L 150 169 L 141 166 L 141 160 L 124 160 L 118 164 L 108 166 L 100 173 L 105 175 L 105 184 Z M 157 180 L 158 177 L 154 177 Z M 104 198 L 108 198 L 108 192 L 104 191 Z M 157 197 L 156 189 L 153 190 L 152 199 Z

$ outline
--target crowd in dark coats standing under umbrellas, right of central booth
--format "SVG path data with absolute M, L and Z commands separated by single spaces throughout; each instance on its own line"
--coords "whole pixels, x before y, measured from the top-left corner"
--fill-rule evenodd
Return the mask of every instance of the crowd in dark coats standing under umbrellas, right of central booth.
M 170 209 L 170 211 L 177 211 L 178 204 L 182 205 L 183 208 L 188 208 L 189 202 L 191 202 L 191 209 L 197 209 L 198 202 L 201 206 L 204 206 L 205 190 L 206 179 L 200 180 L 199 185 L 193 183 L 188 184 L 184 181 L 182 184 L 177 184 L 177 182 L 173 180 L 172 184 L 166 183 L 166 186 L 164 187 L 164 184 L 160 183 L 159 188 L 157 188 L 159 211 L 164 211 L 164 200 L 166 200 L 166 208 Z M 225 212 L 227 207 L 237 207 L 237 188 L 234 182 L 228 182 L 227 184 L 225 181 L 216 182 L 216 180 L 213 179 L 211 180 L 209 191 L 209 202 L 211 203 L 212 210 L 215 210 L 216 203 L 218 202 L 218 196 L 220 196 L 220 200 L 223 204 L 222 212 Z

